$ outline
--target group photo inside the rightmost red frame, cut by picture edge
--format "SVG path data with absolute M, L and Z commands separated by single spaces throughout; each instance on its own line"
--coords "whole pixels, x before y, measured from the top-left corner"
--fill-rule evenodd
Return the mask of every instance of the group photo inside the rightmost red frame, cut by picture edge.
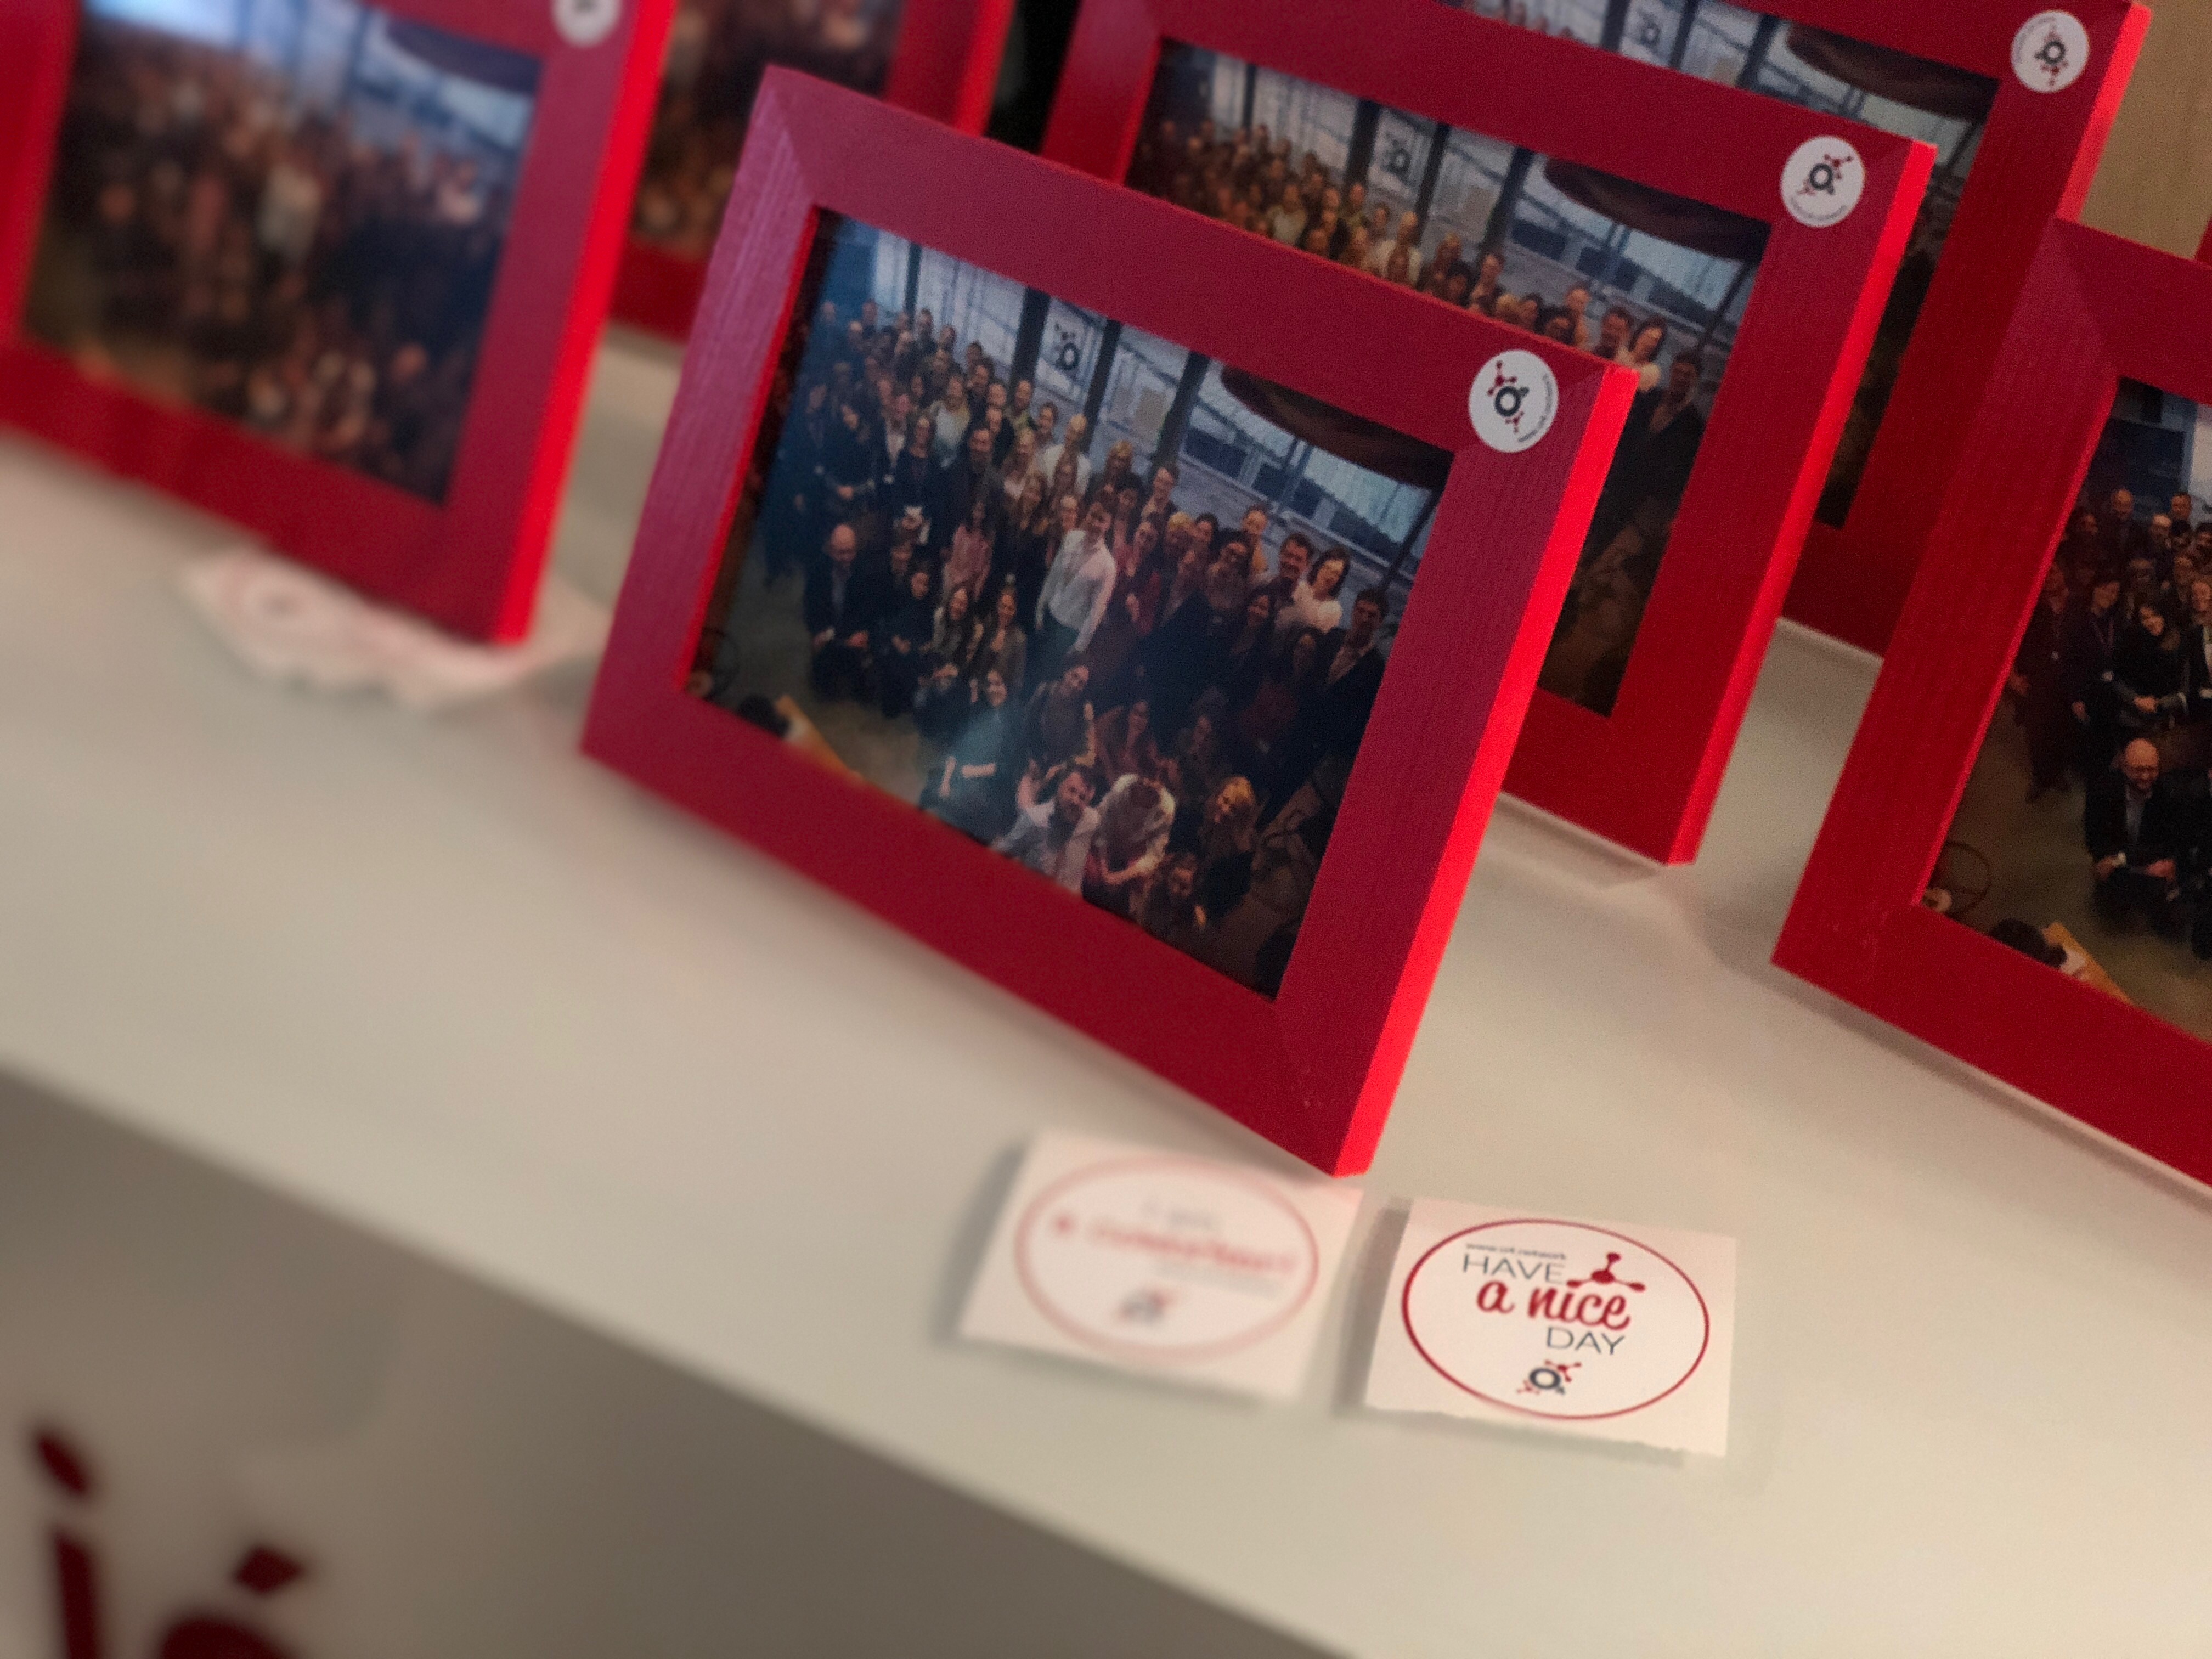
M 2212 1037 L 2212 427 L 2124 383 L 1929 902 Z

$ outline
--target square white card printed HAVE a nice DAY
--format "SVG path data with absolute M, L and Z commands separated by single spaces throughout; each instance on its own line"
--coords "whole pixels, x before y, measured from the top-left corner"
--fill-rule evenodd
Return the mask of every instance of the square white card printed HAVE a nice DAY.
M 1728 1453 L 1736 1241 L 1420 1199 L 1367 1405 Z

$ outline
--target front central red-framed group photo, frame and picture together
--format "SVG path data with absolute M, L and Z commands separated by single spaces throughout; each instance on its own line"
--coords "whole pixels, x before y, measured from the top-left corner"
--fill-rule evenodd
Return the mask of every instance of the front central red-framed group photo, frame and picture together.
M 732 204 L 586 750 L 1363 1170 L 1635 376 L 783 71 Z

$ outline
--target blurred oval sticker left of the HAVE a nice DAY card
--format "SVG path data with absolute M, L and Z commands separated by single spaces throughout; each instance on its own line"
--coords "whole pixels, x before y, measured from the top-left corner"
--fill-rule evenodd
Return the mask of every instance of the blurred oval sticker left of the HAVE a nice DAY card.
M 1044 1188 L 1013 1265 L 1068 1336 L 1137 1360 L 1232 1354 L 1279 1332 L 1321 1281 L 1321 1250 L 1261 1181 L 1170 1157 L 1124 1159 Z

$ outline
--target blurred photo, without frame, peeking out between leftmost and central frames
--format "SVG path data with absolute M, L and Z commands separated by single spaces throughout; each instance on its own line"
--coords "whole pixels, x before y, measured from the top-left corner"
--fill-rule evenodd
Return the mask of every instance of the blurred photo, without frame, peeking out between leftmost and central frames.
M 856 93 L 891 73 L 905 0 L 686 0 L 668 31 L 630 234 L 706 259 L 737 181 L 737 153 L 770 64 Z

